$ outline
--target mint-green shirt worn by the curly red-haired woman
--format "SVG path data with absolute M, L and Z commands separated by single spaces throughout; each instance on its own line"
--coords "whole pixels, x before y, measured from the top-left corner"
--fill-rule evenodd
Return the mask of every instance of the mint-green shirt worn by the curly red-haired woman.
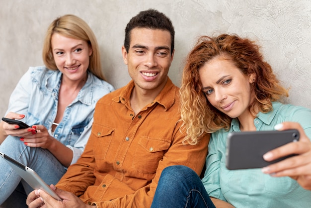
M 254 119 L 257 131 L 274 130 L 284 121 L 299 122 L 311 138 L 311 109 L 291 104 L 273 103 L 273 110 L 259 112 Z M 229 131 L 212 133 L 206 172 L 202 182 L 210 197 L 232 204 L 236 208 L 307 208 L 311 206 L 311 191 L 304 190 L 290 177 L 271 177 L 261 169 L 228 170 L 226 140 L 229 132 L 240 131 L 233 119 Z

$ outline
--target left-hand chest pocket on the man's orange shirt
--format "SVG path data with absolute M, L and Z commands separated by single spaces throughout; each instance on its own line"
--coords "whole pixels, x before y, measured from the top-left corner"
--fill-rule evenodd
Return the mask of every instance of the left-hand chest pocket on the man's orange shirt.
M 103 160 L 106 158 L 108 148 L 113 139 L 114 129 L 93 123 L 92 135 L 96 138 L 96 142 L 93 146 L 93 150 L 96 152 L 96 154 L 94 154 L 95 159 Z

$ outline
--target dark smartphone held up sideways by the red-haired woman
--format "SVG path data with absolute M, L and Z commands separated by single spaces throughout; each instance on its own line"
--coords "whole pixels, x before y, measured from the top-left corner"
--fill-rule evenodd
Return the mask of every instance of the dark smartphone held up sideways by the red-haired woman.
M 296 129 L 285 131 L 243 131 L 229 133 L 226 147 L 226 167 L 229 170 L 263 168 L 294 155 L 267 162 L 263 155 L 289 142 L 299 140 Z

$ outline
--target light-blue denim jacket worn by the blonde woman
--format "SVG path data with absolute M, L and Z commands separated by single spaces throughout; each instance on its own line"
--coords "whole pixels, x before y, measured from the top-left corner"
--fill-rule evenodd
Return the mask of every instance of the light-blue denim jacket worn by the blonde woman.
M 11 94 L 5 114 L 9 111 L 24 114 L 23 122 L 30 126 L 44 125 L 51 132 L 61 79 L 59 70 L 49 70 L 45 66 L 30 67 Z M 90 135 L 96 102 L 112 91 L 112 85 L 87 71 L 86 83 L 77 98 L 66 107 L 63 119 L 52 136 L 72 149 L 72 164 L 78 160 Z

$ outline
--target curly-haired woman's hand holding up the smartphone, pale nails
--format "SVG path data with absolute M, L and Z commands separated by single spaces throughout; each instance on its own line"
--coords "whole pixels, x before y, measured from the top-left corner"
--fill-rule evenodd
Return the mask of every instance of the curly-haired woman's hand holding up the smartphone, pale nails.
M 263 173 L 274 177 L 289 176 L 295 179 L 304 189 L 311 190 L 311 141 L 299 123 L 284 122 L 275 127 L 277 130 L 297 129 L 300 133 L 298 142 L 291 142 L 263 155 L 266 161 L 272 161 L 287 155 L 296 156 L 269 165 Z

